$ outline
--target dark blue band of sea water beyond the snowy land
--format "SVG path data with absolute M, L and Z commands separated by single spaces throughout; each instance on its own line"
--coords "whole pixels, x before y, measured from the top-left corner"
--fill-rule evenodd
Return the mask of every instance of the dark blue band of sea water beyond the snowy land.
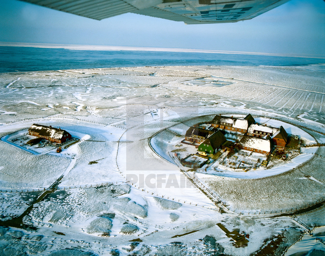
M 324 62 L 323 58 L 251 54 L 68 50 L 0 46 L 0 73 L 137 66 L 304 66 Z

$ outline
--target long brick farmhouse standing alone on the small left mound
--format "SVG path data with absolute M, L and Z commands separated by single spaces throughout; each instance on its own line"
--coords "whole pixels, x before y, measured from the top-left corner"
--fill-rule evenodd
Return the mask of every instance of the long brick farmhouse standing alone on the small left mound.
M 67 140 L 71 140 L 71 134 L 60 128 L 54 128 L 52 126 L 33 124 L 28 129 L 28 134 L 45 140 L 54 141 L 57 143 L 63 143 Z

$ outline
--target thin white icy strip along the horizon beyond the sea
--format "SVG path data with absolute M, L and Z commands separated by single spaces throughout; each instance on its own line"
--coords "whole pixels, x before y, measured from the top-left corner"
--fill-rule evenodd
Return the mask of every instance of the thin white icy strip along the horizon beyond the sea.
M 280 57 L 299 57 L 299 58 L 319 58 L 325 56 L 306 55 L 306 54 L 283 54 L 283 53 L 266 53 L 266 52 L 241 52 L 241 51 L 224 51 L 224 50 L 204 50 L 204 49 L 186 49 L 186 48 L 164 48 L 164 47 L 143 47 L 143 46 L 114 46 L 114 45 L 87 45 L 87 44 L 56 44 L 56 43 L 17 43 L 17 42 L 0 42 L 0 46 L 14 47 L 34 47 L 50 49 L 66 49 L 80 51 L 153 51 L 153 52 L 192 52 L 192 53 L 219 53 L 219 54 L 244 54 L 244 55 L 266 55 Z

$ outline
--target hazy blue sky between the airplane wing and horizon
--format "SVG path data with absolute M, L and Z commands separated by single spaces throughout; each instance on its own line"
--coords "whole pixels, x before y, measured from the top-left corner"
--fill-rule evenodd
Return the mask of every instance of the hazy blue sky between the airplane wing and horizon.
M 101 21 L 0 0 L 0 41 L 325 55 L 325 2 L 291 0 L 251 20 L 185 25 L 123 14 Z

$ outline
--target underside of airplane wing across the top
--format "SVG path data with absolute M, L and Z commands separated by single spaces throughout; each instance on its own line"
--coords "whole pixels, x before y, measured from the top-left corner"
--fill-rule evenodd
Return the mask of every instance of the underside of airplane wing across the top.
M 101 20 L 123 13 L 184 21 L 186 24 L 237 22 L 254 18 L 289 0 L 22 0 Z

